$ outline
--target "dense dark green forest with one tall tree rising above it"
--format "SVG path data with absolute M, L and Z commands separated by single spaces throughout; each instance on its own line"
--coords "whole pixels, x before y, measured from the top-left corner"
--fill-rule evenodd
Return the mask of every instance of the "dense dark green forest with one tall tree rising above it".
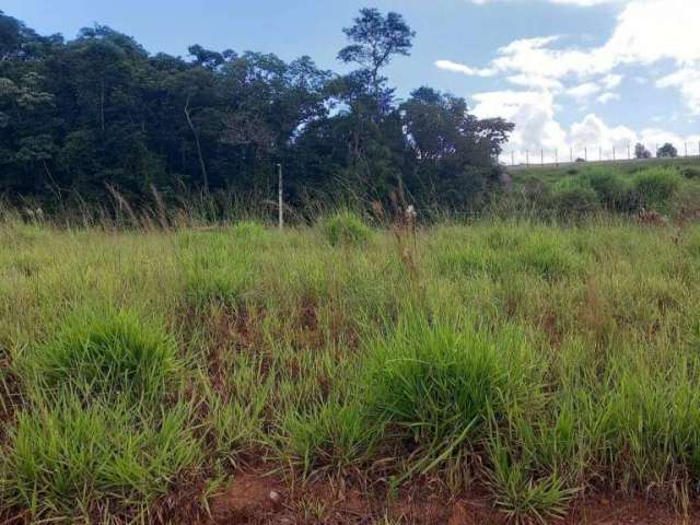
M 343 30 L 338 74 L 307 57 L 189 47 L 152 55 L 103 25 L 71 40 L 0 11 L 0 194 L 45 209 L 277 190 L 299 210 L 401 199 L 476 209 L 498 184 L 513 125 L 477 119 L 428 86 L 399 101 L 383 75 L 410 54 L 398 13 L 362 10 Z M 213 199 L 215 201 L 215 199 Z

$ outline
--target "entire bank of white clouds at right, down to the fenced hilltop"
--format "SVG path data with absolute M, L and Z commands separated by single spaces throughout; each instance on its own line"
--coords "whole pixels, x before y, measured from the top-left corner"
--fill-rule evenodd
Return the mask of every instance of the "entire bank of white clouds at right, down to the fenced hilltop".
M 471 0 L 471 3 L 509 0 Z M 521 0 L 510 0 L 517 2 Z M 580 144 L 600 144 L 626 149 L 635 142 L 653 147 L 656 142 L 693 143 L 697 136 L 678 137 L 655 128 L 639 132 L 609 127 L 595 113 L 564 129 L 557 121 L 557 100 L 564 97 L 582 107 L 612 104 L 621 100 L 617 91 L 625 79 L 625 67 L 670 66 L 672 71 L 651 78 L 650 86 L 669 90 L 681 98 L 691 118 L 700 116 L 700 1 L 697 0 L 542 0 L 552 4 L 581 8 L 619 4 L 616 25 L 599 46 L 579 48 L 564 45 L 561 35 L 546 35 L 511 42 L 499 48 L 485 66 L 441 59 L 442 70 L 468 77 L 502 78 L 513 90 L 474 95 L 475 113 L 480 117 L 503 116 L 516 124 L 511 140 L 514 149 L 562 149 Z M 646 82 L 646 81 L 645 81 Z

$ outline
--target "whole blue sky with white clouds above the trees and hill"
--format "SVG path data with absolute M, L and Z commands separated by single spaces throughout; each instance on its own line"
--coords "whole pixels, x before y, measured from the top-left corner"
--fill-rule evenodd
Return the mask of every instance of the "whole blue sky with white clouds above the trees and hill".
M 342 27 L 363 7 L 397 11 L 417 32 L 387 70 L 397 95 L 421 85 L 504 117 L 504 152 L 551 160 L 626 156 L 628 147 L 700 149 L 700 0 L 1 0 L 40 34 L 94 23 L 149 51 L 187 47 L 310 55 L 343 71 Z

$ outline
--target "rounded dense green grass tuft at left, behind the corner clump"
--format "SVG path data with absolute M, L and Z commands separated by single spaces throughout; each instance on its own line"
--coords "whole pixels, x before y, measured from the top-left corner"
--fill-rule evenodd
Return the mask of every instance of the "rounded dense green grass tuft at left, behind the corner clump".
M 178 368 L 159 324 L 126 311 L 80 310 L 28 357 L 40 387 L 156 399 Z

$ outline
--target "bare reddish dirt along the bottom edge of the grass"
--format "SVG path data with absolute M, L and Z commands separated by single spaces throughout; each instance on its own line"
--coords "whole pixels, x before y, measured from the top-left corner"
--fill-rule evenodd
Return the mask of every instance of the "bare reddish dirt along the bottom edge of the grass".
M 375 501 L 373 501 L 375 500 Z M 279 478 L 245 474 L 233 478 L 214 499 L 207 525 L 488 525 L 505 524 L 486 494 L 450 498 L 429 487 L 415 487 L 386 505 L 385 494 L 338 482 L 294 488 Z M 700 506 L 684 518 L 670 503 L 622 497 L 592 497 L 573 505 L 561 525 L 700 525 Z

